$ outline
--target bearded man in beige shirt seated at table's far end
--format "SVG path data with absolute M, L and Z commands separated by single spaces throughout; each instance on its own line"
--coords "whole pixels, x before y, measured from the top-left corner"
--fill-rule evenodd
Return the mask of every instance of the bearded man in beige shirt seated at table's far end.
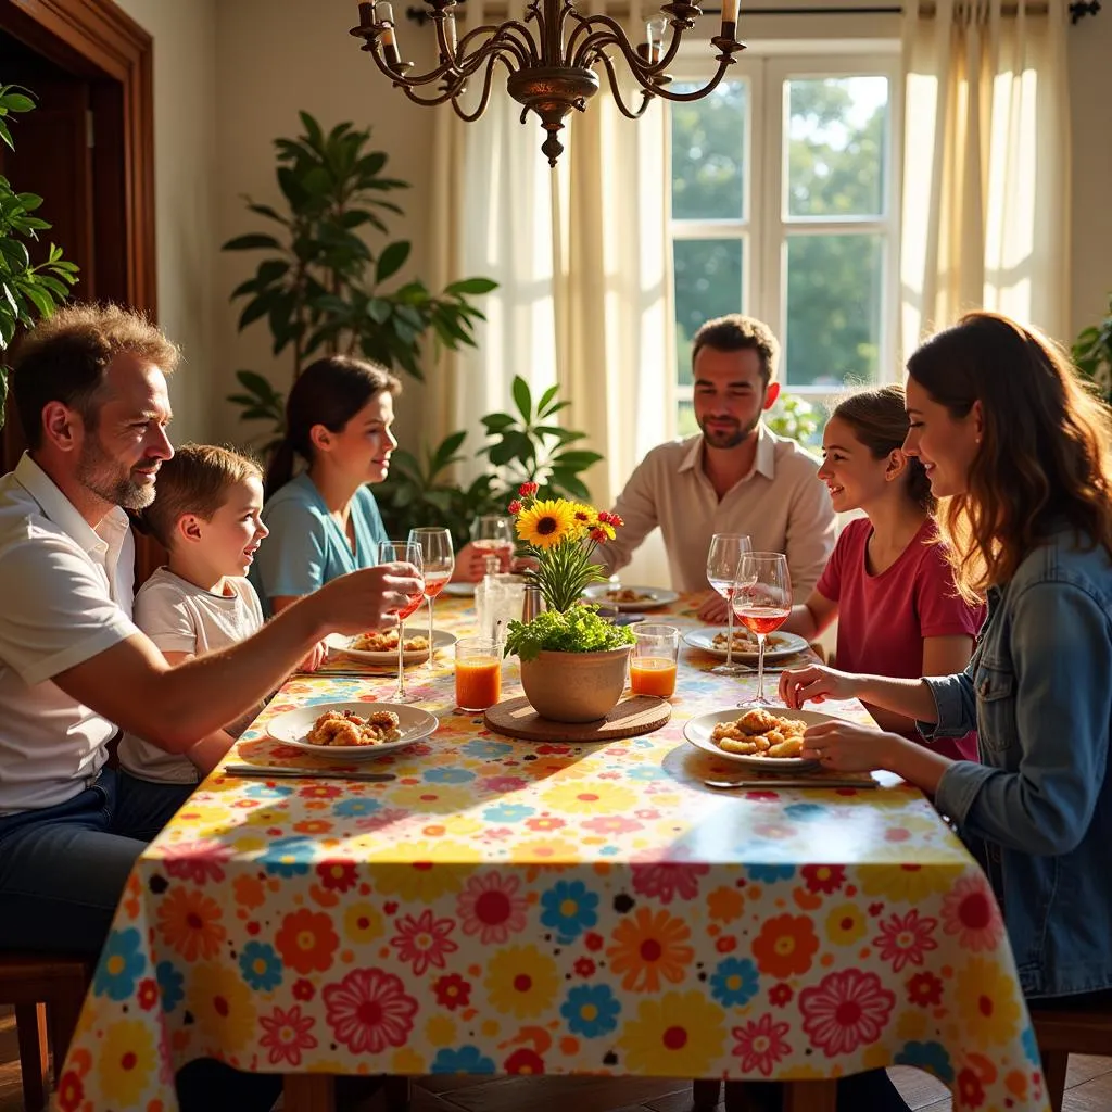
M 795 597 L 804 599 L 834 547 L 834 508 L 818 463 L 761 417 L 780 395 L 780 345 L 751 317 L 707 321 L 692 344 L 695 419 L 702 430 L 654 448 L 618 496 L 625 522 L 597 556 L 608 572 L 629 563 L 659 526 L 676 590 L 707 588 L 706 556 L 715 533 L 748 534 L 755 552 L 787 555 Z M 726 617 L 712 594 L 705 622 Z

